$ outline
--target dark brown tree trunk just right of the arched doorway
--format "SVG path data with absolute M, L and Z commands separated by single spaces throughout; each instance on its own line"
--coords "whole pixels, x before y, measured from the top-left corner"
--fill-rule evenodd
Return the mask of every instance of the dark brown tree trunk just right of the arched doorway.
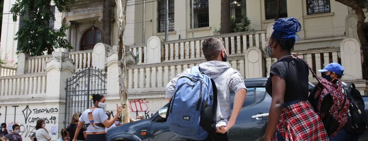
M 111 46 L 111 16 L 114 3 L 111 0 L 103 0 L 102 11 L 102 43 Z

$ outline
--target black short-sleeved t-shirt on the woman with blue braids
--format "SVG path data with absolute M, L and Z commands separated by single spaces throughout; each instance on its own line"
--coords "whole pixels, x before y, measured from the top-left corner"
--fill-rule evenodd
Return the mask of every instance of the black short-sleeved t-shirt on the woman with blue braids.
M 271 66 L 270 77 L 266 84 L 266 91 L 270 96 L 272 96 L 272 75 L 285 80 L 284 102 L 308 99 L 309 70 L 303 60 L 283 58 Z

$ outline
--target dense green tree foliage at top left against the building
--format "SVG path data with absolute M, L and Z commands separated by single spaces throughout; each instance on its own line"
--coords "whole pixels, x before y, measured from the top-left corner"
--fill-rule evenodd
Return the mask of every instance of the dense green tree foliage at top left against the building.
M 55 21 L 52 0 L 16 0 L 10 12 L 13 14 L 13 21 L 22 18 L 23 26 L 19 29 L 17 37 L 20 46 L 17 53 L 28 53 L 32 56 L 51 54 L 54 48 L 72 49 L 71 44 L 64 39 L 67 25 L 61 23 L 59 29 L 50 28 L 50 20 Z M 59 12 L 70 11 L 69 4 L 74 4 L 75 0 L 53 0 Z

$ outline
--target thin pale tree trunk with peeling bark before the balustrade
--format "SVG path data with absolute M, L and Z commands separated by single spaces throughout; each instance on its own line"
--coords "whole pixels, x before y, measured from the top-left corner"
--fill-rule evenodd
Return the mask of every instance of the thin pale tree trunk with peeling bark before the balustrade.
M 129 122 L 129 107 L 128 107 L 128 91 L 127 87 L 125 86 L 125 72 L 126 72 L 126 65 L 125 65 L 125 47 L 124 47 L 124 30 L 125 25 L 127 22 L 125 21 L 125 14 L 127 10 L 127 0 L 121 3 L 121 0 L 115 0 L 117 6 L 117 27 L 118 27 L 118 67 L 119 67 L 119 96 L 120 96 L 120 103 L 123 106 L 123 111 L 121 112 L 121 120 L 123 123 Z

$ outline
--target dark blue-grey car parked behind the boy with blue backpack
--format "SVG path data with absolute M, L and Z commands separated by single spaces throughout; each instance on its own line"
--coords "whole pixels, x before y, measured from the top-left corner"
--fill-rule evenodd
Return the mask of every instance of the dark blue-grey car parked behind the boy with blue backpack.
M 265 89 L 267 78 L 245 79 L 248 88 L 243 108 L 233 128 L 229 130 L 230 141 L 258 141 L 265 134 L 271 97 Z M 309 83 L 311 90 L 314 85 Z M 234 102 L 231 92 L 231 107 Z M 107 131 L 110 141 L 185 141 L 170 131 L 166 124 L 167 105 L 151 118 L 123 124 Z

